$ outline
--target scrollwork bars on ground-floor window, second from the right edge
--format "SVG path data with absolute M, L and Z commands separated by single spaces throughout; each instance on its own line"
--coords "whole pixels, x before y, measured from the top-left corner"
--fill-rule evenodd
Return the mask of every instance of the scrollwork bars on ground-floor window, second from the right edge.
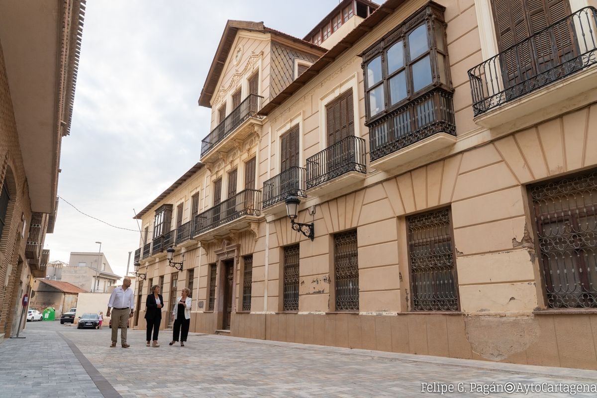
M 449 209 L 407 218 L 414 311 L 457 311 L 458 291 Z

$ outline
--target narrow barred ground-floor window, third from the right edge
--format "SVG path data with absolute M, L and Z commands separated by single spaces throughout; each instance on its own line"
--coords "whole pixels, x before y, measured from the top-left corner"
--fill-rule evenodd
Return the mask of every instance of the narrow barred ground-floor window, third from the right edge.
M 359 310 L 359 257 L 356 230 L 334 235 L 336 311 Z

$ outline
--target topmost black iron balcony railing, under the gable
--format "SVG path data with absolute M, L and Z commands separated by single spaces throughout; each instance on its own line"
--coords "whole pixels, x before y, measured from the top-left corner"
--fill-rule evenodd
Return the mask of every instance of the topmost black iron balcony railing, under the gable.
M 210 152 L 213 147 L 219 144 L 248 118 L 262 119 L 263 116 L 257 115 L 257 112 L 261 109 L 261 100 L 263 100 L 261 95 L 249 94 L 239 106 L 230 112 L 230 115 L 226 116 L 226 118 L 224 118 L 224 120 L 201 141 L 201 156 Z

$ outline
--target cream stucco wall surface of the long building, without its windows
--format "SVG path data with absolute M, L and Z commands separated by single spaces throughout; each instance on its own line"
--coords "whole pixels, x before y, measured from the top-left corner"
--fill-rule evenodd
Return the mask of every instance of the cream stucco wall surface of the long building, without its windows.
M 339 7 L 349 3 L 344 1 Z M 139 303 L 151 285 L 162 284 L 170 308 L 176 280 L 176 291 L 192 286 L 192 331 L 597 369 L 596 306 L 558 307 L 548 300 L 545 280 L 549 276 L 542 263 L 547 261 L 546 254 L 538 242 L 530 194 L 535 184 L 552 178 L 555 184 L 564 185 L 562 179 L 578 173 L 594 178 L 590 172 L 597 167 L 597 66 L 589 65 L 475 116 L 467 71 L 496 54 L 493 28 L 479 29 L 479 23 L 491 16 L 491 7 L 487 1 L 438 3 L 445 7 L 455 134 L 437 131 L 373 161 L 370 134 L 374 123 L 368 119 L 362 57 L 422 10 L 426 1 L 384 3 L 361 21 L 370 23 L 364 33 L 356 37 L 346 32 L 345 39 L 332 36 L 335 44 L 326 47 L 328 52 L 323 51 L 303 78 L 282 90 L 275 88 L 275 79 L 279 81 L 276 76 L 284 73 L 274 69 L 284 71 L 285 66 L 272 49 L 283 44 L 287 54 L 295 57 L 317 55 L 318 50 L 263 26 L 224 30 L 214 64 L 218 59 L 225 62 L 219 72 L 214 66 L 210 70 L 200 100 L 213 110 L 211 130 L 220 128 L 219 109 L 224 104 L 226 115 L 233 115 L 236 90 L 241 90 L 241 98 L 251 94 L 249 80 L 254 73 L 259 73 L 262 112 L 242 122 L 235 120 L 238 127 L 202 151 L 202 164 L 137 215 L 143 230 L 149 232 L 136 253 L 140 272 L 147 274 L 138 285 Z M 573 13 L 581 8 L 579 4 L 570 2 Z M 372 20 L 375 23 L 368 22 Z M 208 92 L 209 87 L 215 90 Z M 309 167 L 307 159 L 330 146 L 326 112 L 346 92 L 352 92 L 353 135 L 364 140 L 367 168 L 304 190 L 298 221 L 313 223 L 311 240 L 291 228 L 284 198 L 266 205 L 266 190 L 284 172 L 284 140 L 296 126 L 299 167 Z M 254 202 L 244 207 L 240 203 L 244 212 L 238 212 L 239 200 L 235 199 L 234 207 L 230 198 L 238 198 L 247 189 L 246 168 L 251 159 L 256 162 L 254 189 L 260 191 L 263 208 L 250 211 L 257 210 Z M 229 179 L 235 177 L 232 187 Z M 220 198 L 214 195 L 218 186 L 221 202 L 214 201 Z M 195 214 L 211 224 L 201 224 L 197 233 L 178 242 L 184 232 L 179 226 L 196 220 L 193 196 L 198 198 Z M 176 240 L 171 237 L 159 244 L 163 243 L 163 249 L 167 244 L 174 246 L 174 261 L 181 261 L 184 254 L 183 271 L 168 267 L 165 252 L 159 249 L 152 254 L 149 245 L 155 211 L 169 204 L 171 230 L 178 230 L 178 235 Z M 226 213 L 226 206 L 233 211 Z M 409 223 L 413 217 L 443 209 L 449 214 L 444 239 L 453 252 L 456 307 L 420 310 L 413 301 L 414 235 Z M 596 228 L 589 224 L 587 228 Z M 335 239 L 355 230 L 357 249 L 351 255 L 358 258 L 358 304 L 351 311 L 338 310 Z M 590 253 L 597 243 L 590 239 L 585 240 L 588 246 L 583 250 L 589 257 L 583 270 L 594 273 L 597 264 L 590 263 L 595 258 Z M 285 253 L 296 244 L 298 306 L 285 310 Z M 144 245 L 149 245 L 145 253 Z M 244 276 L 249 270 L 247 285 Z M 227 297 L 227 283 L 232 286 L 232 301 Z M 138 328 L 145 327 L 143 307 L 139 306 Z

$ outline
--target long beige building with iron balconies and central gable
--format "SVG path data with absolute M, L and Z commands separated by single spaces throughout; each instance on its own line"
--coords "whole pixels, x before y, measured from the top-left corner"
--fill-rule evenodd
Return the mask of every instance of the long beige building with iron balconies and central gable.
M 597 369 L 595 5 L 229 21 L 201 162 L 137 214 L 137 327 L 189 287 L 192 331 Z

